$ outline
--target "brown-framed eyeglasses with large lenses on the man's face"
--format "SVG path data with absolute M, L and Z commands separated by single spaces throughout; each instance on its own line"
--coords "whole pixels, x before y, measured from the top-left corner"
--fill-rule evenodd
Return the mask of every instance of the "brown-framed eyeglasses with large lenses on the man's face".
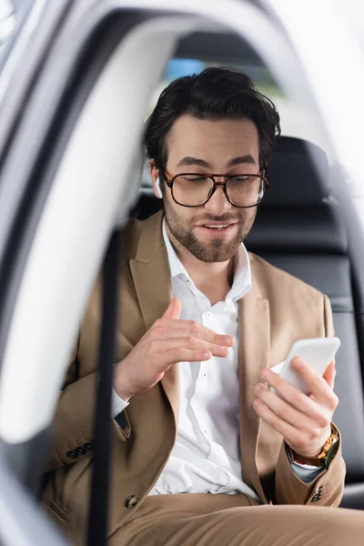
M 225 178 L 217 182 L 216 177 Z M 257 207 L 269 183 L 261 175 L 204 175 L 201 173 L 181 173 L 168 178 L 165 173 L 167 187 L 177 205 L 182 207 L 200 207 L 210 199 L 217 186 L 221 186 L 227 201 L 234 207 Z

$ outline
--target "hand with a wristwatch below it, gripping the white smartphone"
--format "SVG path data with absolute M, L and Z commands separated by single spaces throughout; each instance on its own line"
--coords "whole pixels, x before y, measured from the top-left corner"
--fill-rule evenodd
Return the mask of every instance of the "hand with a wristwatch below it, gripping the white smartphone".
M 299 358 L 293 359 L 291 366 L 306 380 L 311 394 L 303 394 L 274 371 L 265 368 L 261 379 L 276 389 L 282 398 L 263 383 L 258 383 L 253 406 L 263 420 L 282 434 L 292 450 L 304 459 L 311 459 L 319 454 L 328 440 L 332 416 L 339 403 L 333 391 L 335 362 L 330 362 L 323 376 Z

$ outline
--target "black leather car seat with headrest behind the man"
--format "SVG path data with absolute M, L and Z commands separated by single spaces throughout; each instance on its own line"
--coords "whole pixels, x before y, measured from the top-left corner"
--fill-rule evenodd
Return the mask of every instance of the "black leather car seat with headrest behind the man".
M 308 151 L 326 176 L 317 175 Z M 330 298 L 336 335 L 341 339 L 335 386 L 340 399 L 335 422 L 342 434 L 347 465 L 341 506 L 364 510 L 364 355 L 359 343 L 364 334 L 364 286 L 352 275 L 346 229 L 329 187 L 328 160 L 319 147 L 282 136 L 268 178 L 270 187 L 246 244 L 252 252 Z M 134 215 L 148 217 L 159 204 L 151 189 L 144 188 Z

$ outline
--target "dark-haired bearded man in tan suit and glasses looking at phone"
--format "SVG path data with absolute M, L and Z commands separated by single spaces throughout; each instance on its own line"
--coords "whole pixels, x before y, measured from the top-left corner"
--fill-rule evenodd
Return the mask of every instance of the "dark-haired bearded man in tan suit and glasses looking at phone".
M 360 512 L 322 509 L 339 505 L 345 476 L 334 363 L 321 378 L 295 359 L 310 396 L 269 369 L 295 340 L 333 335 L 329 299 L 242 243 L 278 133 L 275 107 L 248 76 L 218 68 L 172 82 L 148 121 L 164 214 L 124 233 L 112 545 L 361 543 Z M 97 285 L 56 410 L 43 499 L 76 544 L 99 315 Z

